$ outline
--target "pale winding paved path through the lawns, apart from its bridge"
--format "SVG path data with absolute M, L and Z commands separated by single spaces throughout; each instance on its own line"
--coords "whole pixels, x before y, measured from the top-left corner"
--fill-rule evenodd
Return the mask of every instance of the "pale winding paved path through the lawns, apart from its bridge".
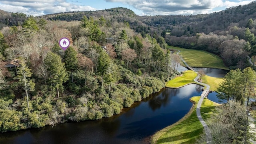
M 180 50 L 178 50 L 177 54 L 179 54 L 179 53 L 180 53 Z M 182 62 L 184 62 L 184 64 L 185 64 L 188 68 L 190 68 L 191 70 L 194 71 L 194 69 L 192 69 L 192 68 L 183 60 L 183 58 L 182 58 L 181 56 L 180 56 L 180 59 L 182 60 Z M 196 72 L 196 73 L 197 73 L 197 72 Z M 199 75 L 196 76 L 196 78 L 194 79 L 194 81 L 195 81 L 196 83 L 198 83 L 198 84 L 201 84 L 201 85 L 205 86 L 205 87 L 206 87 L 206 90 L 210 90 L 210 86 L 209 86 L 208 84 L 204 84 L 204 83 L 202 83 L 202 82 L 198 82 L 198 78 L 199 78 L 199 77 L 200 77 Z M 212 136 L 211 136 L 210 130 L 209 130 L 209 128 L 208 128 L 206 122 L 204 121 L 204 119 L 203 119 L 202 116 L 201 116 L 201 111 L 200 111 L 200 108 L 201 108 L 201 105 L 202 105 L 203 100 L 204 100 L 204 97 L 201 96 L 201 97 L 200 97 L 200 100 L 198 101 L 197 106 L 196 106 L 196 115 L 197 115 L 199 121 L 201 122 L 201 124 L 202 124 L 203 127 L 204 127 L 204 131 L 205 131 L 205 133 L 206 133 L 206 140 L 207 140 L 206 143 L 207 143 L 207 144 L 210 144 L 210 143 L 211 143 L 211 140 L 212 140 Z

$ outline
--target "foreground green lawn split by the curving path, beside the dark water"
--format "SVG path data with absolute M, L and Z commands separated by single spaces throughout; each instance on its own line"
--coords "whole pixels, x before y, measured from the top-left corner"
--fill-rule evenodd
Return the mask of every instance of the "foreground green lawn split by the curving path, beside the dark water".
M 203 132 L 203 126 L 196 116 L 196 105 L 200 96 L 194 96 L 190 99 L 193 107 L 181 120 L 168 126 L 154 134 L 151 137 L 151 144 L 192 144 L 200 137 Z M 202 118 L 210 117 L 215 106 L 214 103 L 207 98 L 204 99 L 201 107 Z

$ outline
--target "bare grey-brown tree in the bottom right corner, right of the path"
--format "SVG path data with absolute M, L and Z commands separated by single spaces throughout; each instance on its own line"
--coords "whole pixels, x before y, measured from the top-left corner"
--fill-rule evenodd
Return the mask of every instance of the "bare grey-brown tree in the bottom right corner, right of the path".
M 207 124 L 212 136 L 211 144 L 247 144 L 244 142 L 248 123 L 246 107 L 240 102 L 228 101 L 222 106 L 216 107 L 216 114 L 207 119 Z M 248 136 L 248 135 L 247 135 Z M 250 136 L 247 137 L 248 140 Z M 202 136 L 198 143 L 206 142 L 206 136 Z

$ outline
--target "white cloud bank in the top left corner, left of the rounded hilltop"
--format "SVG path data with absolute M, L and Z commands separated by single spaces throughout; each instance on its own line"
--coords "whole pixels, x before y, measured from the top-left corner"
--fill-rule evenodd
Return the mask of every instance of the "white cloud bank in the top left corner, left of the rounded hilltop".
M 66 0 L 0 0 L 0 9 L 7 12 L 22 12 L 40 16 L 58 12 L 96 10 L 90 6 L 79 6 Z

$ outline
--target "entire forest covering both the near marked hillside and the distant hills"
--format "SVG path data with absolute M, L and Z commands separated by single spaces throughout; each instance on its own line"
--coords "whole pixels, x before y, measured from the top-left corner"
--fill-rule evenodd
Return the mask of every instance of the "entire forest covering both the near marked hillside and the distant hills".
M 250 66 L 255 5 L 195 16 L 111 8 L 33 17 L 1 10 L 0 130 L 119 114 L 178 74 L 180 57 L 166 44 L 212 52 L 230 69 Z M 62 37 L 70 40 L 65 51 Z

